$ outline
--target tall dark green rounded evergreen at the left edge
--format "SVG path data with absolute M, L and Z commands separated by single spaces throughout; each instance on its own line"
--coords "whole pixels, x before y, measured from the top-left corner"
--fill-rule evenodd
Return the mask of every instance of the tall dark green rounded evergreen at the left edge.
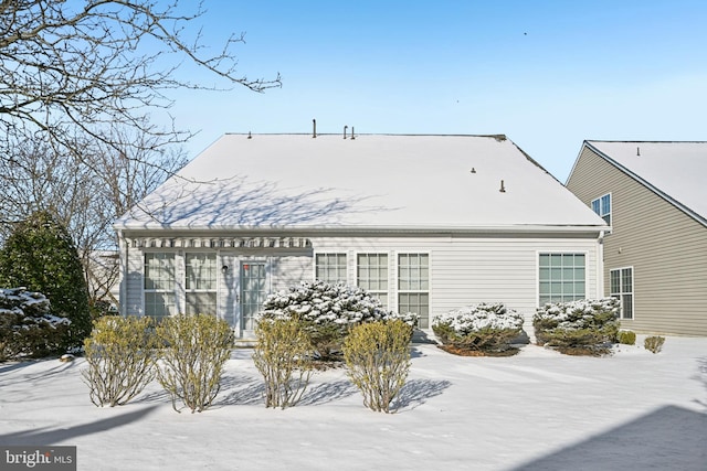
M 88 288 L 78 253 L 50 212 L 33 213 L 6 240 L 0 249 L 0 287 L 44 293 L 51 313 L 71 320 L 63 346 L 80 346 L 91 333 Z

